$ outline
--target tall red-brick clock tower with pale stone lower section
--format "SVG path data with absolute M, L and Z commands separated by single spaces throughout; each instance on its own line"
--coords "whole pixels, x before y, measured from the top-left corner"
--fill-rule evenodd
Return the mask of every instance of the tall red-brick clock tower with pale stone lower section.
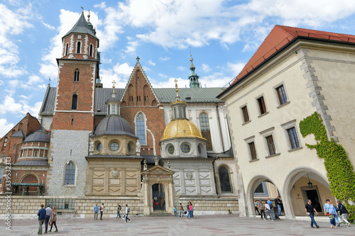
M 99 39 L 82 12 L 62 37 L 53 111 L 49 195 L 84 195 L 89 133 L 94 128 L 94 98 L 99 78 Z M 99 80 L 97 80 L 99 81 Z

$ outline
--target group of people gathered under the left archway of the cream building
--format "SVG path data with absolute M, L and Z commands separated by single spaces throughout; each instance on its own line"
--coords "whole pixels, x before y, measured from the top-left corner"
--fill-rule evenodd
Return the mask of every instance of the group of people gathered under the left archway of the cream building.
M 283 213 L 282 202 L 278 196 L 275 198 L 275 208 L 270 198 L 267 198 L 265 203 L 263 203 L 261 200 L 254 200 L 254 206 L 258 215 L 261 216 L 261 220 L 267 220 L 269 215 L 271 220 L 275 221 L 275 219 L 280 219 L 278 216 L 282 215 Z

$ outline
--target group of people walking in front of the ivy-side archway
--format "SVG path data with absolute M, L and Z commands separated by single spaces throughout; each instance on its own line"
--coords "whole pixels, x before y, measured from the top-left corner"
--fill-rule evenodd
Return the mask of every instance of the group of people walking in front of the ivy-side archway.
M 347 220 L 348 218 L 348 210 L 346 210 L 345 206 L 342 204 L 341 201 L 337 201 L 338 206 L 332 203 L 331 200 L 325 200 L 326 203 L 324 204 L 324 215 L 327 215 L 330 219 L 330 228 L 336 229 L 340 226 L 339 217 L 342 217 L 342 220 L 349 227 L 350 223 Z M 308 199 L 308 203 L 305 206 L 305 212 L 307 215 L 310 215 L 311 218 L 311 227 L 320 227 L 315 222 L 315 213 L 318 215 L 317 210 L 312 206 L 312 201 Z M 315 226 L 314 226 L 315 225 Z

